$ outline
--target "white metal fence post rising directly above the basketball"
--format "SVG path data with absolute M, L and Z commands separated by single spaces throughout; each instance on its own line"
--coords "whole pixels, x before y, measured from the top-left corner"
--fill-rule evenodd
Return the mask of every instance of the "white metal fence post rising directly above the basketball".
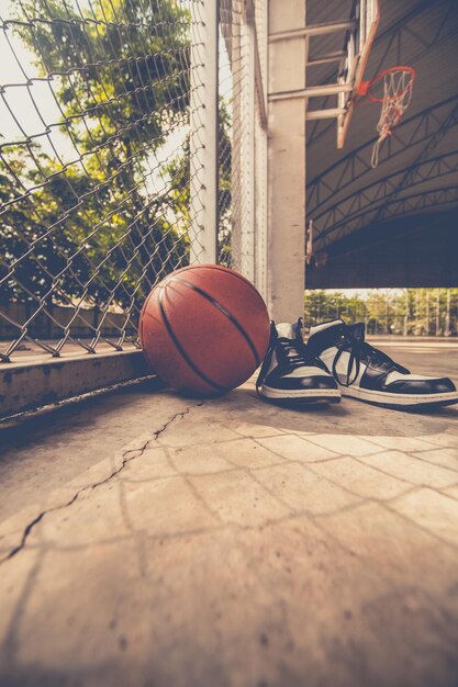
M 190 262 L 216 262 L 217 16 L 216 0 L 191 0 Z

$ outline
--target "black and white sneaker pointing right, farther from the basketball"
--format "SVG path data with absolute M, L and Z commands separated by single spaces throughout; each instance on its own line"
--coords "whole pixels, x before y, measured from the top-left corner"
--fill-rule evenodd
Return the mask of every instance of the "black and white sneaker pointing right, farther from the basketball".
M 308 348 L 333 373 L 344 396 L 403 408 L 458 403 L 451 380 L 412 374 L 365 341 L 362 323 L 336 319 L 312 327 Z

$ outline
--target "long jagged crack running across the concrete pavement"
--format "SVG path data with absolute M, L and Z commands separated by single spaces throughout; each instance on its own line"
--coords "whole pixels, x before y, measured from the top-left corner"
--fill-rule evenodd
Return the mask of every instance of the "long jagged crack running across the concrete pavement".
M 172 415 L 172 417 L 167 420 L 167 423 L 164 423 L 164 425 L 161 427 L 159 427 L 159 429 L 156 429 L 153 432 L 153 437 L 150 439 L 148 439 L 141 448 L 138 449 L 129 449 L 127 451 L 125 451 L 122 454 L 122 463 L 119 468 L 116 468 L 116 470 L 113 470 L 113 472 L 111 472 L 104 480 L 100 480 L 99 482 L 94 482 L 93 484 L 87 484 L 86 486 L 81 487 L 80 489 L 78 489 L 78 492 L 76 492 L 74 494 L 74 496 L 65 504 L 62 504 L 60 506 L 54 506 L 53 508 L 48 508 L 47 510 L 42 510 L 42 513 L 40 513 L 31 522 L 29 522 L 29 525 L 25 527 L 23 533 L 22 533 L 22 538 L 20 543 L 14 547 L 14 549 L 11 549 L 11 551 L 3 556 L 2 559 L 0 559 L 0 565 L 2 565 L 3 563 L 7 563 L 7 561 L 10 561 L 12 558 L 14 558 L 15 555 L 18 555 L 18 553 L 20 551 L 22 551 L 26 543 L 27 543 L 27 539 L 30 533 L 32 532 L 32 530 L 34 529 L 34 527 L 36 525 L 38 525 L 38 522 L 41 522 L 43 520 L 43 518 L 45 516 L 47 516 L 49 513 L 54 513 L 56 510 L 63 510 L 64 508 L 68 508 L 69 506 L 71 506 L 77 498 L 83 493 L 83 492 L 89 492 L 92 489 L 96 489 L 98 486 L 101 486 L 102 484 L 107 484 L 108 482 L 110 482 L 113 477 L 115 477 L 116 475 L 120 474 L 120 472 L 122 472 L 124 470 L 124 468 L 133 460 L 135 460 L 136 458 L 142 458 L 143 453 L 146 451 L 146 449 L 148 448 L 148 446 L 150 443 L 153 443 L 154 441 L 156 441 L 158 439 L 158 437 L 166 431 L 166 429 L 168 427 L 170 427 L 170 425 L 172 423 L 175 423 L 178 419 L 182 419 L 186 415 L 188 415 L 192 408 L 198 408 L 199 406 L 203 405 L 203 401 L 196 403 L 192 406 L 188 406 L 187 408 L 185 408 L 185 410 L 181 410 L 180 413 L 176 413 L 175 415 Z M 130 453 L 133 453 L 133 455 L 129 455 Z

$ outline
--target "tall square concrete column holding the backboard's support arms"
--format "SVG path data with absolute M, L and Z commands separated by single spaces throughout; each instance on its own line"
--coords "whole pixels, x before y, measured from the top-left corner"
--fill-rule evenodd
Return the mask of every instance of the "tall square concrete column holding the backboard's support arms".
M 305 0 L 270 0 L 269 34 L 305 26 Z M 308 38 L 269 46 L 269 93 L 305 88 Z M 269 122 L 268 307 L 277 322 L 304 309 L 305 102 L 271 101 Z

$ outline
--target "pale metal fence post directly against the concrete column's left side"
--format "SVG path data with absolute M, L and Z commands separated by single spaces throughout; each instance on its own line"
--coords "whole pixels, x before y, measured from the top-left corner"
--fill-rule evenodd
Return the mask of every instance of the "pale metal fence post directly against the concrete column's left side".
M 231 7 L 232 260 L 266 296 L 267 1 L 232 0 Z

